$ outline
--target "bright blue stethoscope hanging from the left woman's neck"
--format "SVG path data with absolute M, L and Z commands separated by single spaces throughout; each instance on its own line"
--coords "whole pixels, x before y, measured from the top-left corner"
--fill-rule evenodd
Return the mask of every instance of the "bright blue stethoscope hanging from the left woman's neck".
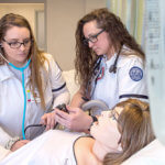
M 0 53 L 1 57 L 14 69 L 20 70 L 22 73 L 22 89 L 23 89 L 23 97 L 24 97 L 24 106 L 23 106 L 23 119 L 22 119 L 22 138 L 25 140 L 25 132 L 24 132 L 24 122 L 25 122 L 25 110 L 26 110 L 26 94 L 25 94 L 25 84 L 24 84 L 24 69 L 26 69 L 31 63 L 31 59 L 28 61 L 25 66 L 16 67 L 12 63 L 8 62 L 4 56 Z

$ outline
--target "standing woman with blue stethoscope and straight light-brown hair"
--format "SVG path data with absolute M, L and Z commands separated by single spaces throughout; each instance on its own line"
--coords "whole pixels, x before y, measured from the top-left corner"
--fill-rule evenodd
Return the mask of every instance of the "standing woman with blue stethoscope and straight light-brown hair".
M 52 55 L 38 50 L 30 23 L 19 14 L 0 19 L 0 145 L 15 151 L 41 134 L 41 117 L 69 94 Z M 31 127 L 30 127 L 31 125 Z M 25 132 L 25 128 L 30 127 Z

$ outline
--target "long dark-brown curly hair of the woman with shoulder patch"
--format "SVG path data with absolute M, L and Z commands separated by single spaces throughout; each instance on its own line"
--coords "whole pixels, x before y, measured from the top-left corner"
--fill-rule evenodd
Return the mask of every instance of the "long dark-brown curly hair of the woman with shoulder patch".
M 107 8 L 97 9 L 85 15 L 78 21 L 76 30 L 76 77 L 79 84 L 86 88 L 88 80 L 91 78 L 94 66 L 98 56 L 92 52 L 88 45 L 84 44 L 84 25 L 87 22 L 96 21 L 98 29 L 103 29 L 113 43 L 116 52 L 119 52 L 122 45 L 128 46 L 130 50 L 145 58 L 144 52 L 141 46 L 135 42 L 133 36 L 128 32 L 127 28 L 121 22 L 120 18 L 110 12 Z M 128 54 L 129 55 L 129 54 Z

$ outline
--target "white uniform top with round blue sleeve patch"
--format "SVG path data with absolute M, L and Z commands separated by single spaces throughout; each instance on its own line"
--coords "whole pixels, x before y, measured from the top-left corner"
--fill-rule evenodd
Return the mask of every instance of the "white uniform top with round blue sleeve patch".
M 92 99 L 107 103 L 109 109 L 128 98 L 138 98 L 147 101 L 146 75 L 143 61 L 136 55 L 120 55 L 117 63 L 117 73 L 110 73 L 117 54 L 109 61 L 102 58 L 103 72 L 97 80 Z M 92 114 L 100 114 L 94 109 Z

